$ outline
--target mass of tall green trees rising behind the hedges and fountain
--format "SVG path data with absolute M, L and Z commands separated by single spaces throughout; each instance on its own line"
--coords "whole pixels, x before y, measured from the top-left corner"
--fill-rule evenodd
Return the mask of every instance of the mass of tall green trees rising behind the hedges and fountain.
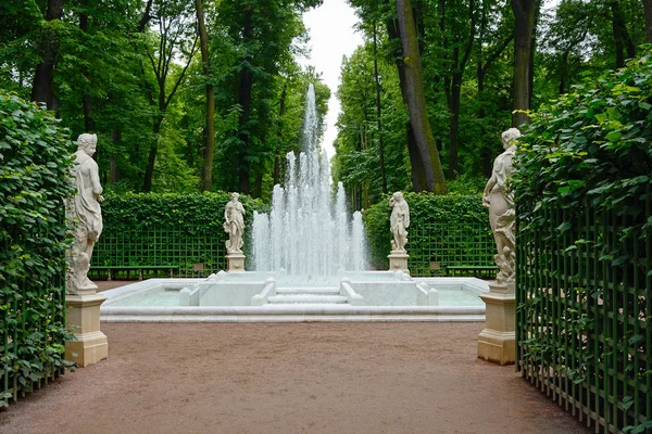
M 269 197 L 337 93 L 334 181 L 352 208 L 392 190 L 474 192 L 500 132 L 652 42 L 649 0 L 349 0 L 363 46 L 339 89 L 301 66 L 321 0 L 0 1 L 0 88 L 99 135 L 116 192 Z M 322 131 L 323 132 L 323 131 Z

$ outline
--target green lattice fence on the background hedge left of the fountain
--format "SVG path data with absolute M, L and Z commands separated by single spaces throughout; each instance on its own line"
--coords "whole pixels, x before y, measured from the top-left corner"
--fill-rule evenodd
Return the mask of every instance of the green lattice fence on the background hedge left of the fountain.
M 93 275 L 202 277 L 226 268 L 224 231 L 178 227 L 104 228 L 91 259 Z

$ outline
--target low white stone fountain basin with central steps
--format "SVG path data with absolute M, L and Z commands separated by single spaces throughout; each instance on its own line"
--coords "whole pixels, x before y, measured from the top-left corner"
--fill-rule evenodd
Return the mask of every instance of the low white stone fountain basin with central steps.
M 484 321 L 478 294 L 486 291 L 487 283 L 475 278 L 411 279 L 392 271 L 308 284 L 279 273 L 221 272 L 105 291 L 100 317 L 108 322 Z M 319 303 L 319 295 L 337 303 Z

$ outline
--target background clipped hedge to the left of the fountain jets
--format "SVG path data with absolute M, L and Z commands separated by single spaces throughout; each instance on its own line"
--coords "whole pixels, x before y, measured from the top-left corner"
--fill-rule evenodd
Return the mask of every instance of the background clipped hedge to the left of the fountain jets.
M 230 193 L 109 194 L 102 204 L 104 229 L 96 244 L 91 270 L 98 266 L 174 266 L 177 276 L 198 276 L 224 269 L 224 206 Z M 251 235 L 253 212 L 267 210 L 260 200 L 240 195 Z M 246 239 L 244 247 L 249 246 Z M 247 252 L 246 252 L 247 254 Z M 93 270 L 95 267 L 95 270 Z

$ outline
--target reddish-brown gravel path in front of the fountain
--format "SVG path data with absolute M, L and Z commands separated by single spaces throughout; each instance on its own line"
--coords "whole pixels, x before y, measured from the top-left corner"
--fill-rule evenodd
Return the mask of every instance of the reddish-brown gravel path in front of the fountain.
M 482 323 L 103 323 L 109 359 L 0 410 L 1 433 L 589 433 Z

